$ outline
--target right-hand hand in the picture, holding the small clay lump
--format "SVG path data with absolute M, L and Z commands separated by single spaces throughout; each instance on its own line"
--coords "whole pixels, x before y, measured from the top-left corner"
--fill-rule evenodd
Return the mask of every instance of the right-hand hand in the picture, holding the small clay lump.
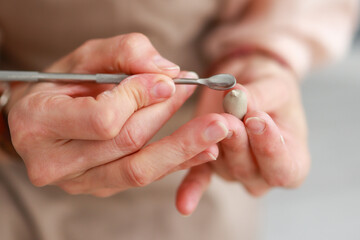
M 254 196 L 272 187 L 297 187 L 309 171 L 307 127 L 295 75 L 261 55 L 231 59 L 217 73 L 237 77 L 241 85 L 236 88 L 248 97 L 248 113 L 243 122 L 224 115 L 235 130 L 219 144 L 218 160 L 192 168 L 179 187 L 177 207 L 183 214 L 194 211 L 213 171 L 242 183 Z M 204 89 L 198 115 L 222 112 L 223 97 Z

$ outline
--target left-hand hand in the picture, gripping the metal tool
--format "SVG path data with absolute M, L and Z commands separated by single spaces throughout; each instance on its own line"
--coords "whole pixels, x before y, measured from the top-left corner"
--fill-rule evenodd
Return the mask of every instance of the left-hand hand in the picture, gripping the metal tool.
M 194 76 L 161 58 L 141 34 L 88 41 L 46 71 L 137 75 L 117 86 L 18 88 L 9 105 L 9 127 L 36 186 L 109 196 L 213 160 L 216 143 L 227 135 L 225 119 L 214 116 L 143 147 L 194 91 L 175 87 L 172 78 Z M 209 126 L 214 134 L 206 133 Z

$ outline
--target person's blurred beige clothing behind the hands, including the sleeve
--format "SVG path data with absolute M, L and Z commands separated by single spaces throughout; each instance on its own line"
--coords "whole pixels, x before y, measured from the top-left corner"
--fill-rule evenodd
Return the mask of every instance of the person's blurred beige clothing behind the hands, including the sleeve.
M 184 69 L 201 72 L 227 54 L 256 47 L 302 75 L 344 54 L 357 5 L 356 0 L 0 0 L 0 68 L 42 70 L 88 39 L 142 32 Z M 190 117 L 179 112 L 175 118 Z M 179 175 L 98 199 L 35 188 L 23 166 L 0 166 L 0 238 L 256 237 L 256 201 L 219 179 L 192 217 L 179 216 L 173 206 Z

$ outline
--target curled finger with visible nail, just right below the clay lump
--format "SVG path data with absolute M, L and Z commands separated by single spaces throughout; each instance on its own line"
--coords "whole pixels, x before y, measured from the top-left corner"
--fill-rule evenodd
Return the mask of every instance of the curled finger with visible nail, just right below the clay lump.
M 251 112 L 246 116 L 245 125 L 251 149 L 266 182 L 270 186 L 292 186 L 298 179 L 298 168 L 271 117 L 264 112 Z

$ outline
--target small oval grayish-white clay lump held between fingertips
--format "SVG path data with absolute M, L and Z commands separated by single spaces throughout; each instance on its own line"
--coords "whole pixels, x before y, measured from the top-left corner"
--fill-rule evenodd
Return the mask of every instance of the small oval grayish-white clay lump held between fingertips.
M 247 97 L 245 92 L 235 89 L 226 94 L 223 100 L 224 111 L 239 119 L 243 119 L 247 112 Z

